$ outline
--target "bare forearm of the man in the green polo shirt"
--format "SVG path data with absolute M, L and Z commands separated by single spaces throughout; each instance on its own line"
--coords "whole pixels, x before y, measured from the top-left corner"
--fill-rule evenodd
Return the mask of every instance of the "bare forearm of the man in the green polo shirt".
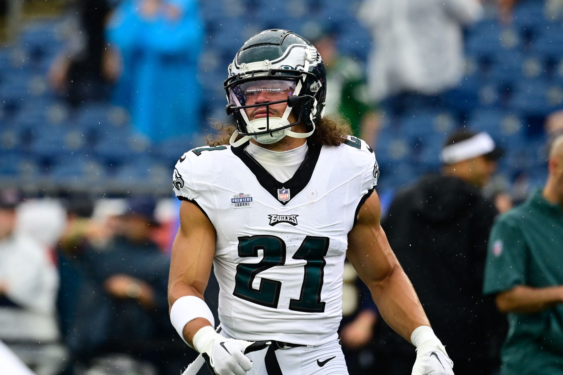
M 538 313 L 563 303 L 563 286 L 533 288 L 518 285 L 499 293 L 496 302 L 503 313 Z

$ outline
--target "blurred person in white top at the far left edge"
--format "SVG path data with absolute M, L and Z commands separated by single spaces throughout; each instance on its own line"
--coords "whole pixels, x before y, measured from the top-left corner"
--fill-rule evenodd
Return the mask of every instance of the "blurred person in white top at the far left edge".
M 0 340 L 39 375 L 64 363 L 55 318 L 59 278 L 46 248 L 15 231 L 16 191 L 0 191 Z

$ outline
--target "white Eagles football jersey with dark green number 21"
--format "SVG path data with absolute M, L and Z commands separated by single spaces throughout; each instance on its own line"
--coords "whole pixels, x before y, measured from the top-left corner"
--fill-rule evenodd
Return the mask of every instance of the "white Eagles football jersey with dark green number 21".
M 200 147 L 176 164 L 176 196 L 216 229 L 219 317 L 230 337 L 323 345 L 337 338 L 347 236 L 373 192 L 373 150 L 348 137 L 309 144 L 294 176 L 275 180 L 244 145 Z

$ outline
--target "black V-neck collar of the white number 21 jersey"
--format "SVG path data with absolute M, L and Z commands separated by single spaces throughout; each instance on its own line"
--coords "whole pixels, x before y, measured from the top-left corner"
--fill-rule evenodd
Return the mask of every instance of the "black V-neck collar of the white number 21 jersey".
M 250 141 L 249 141 L 250 142 Z M 309 146 L 309 151 L 305 159 L 297 169 L 296 173 L 292 178 L 286 182 L 279 182 L 271 174 L 265 170 L 259 162 L 254 160 L 248 152 L 244 150 L 248 142 L 240 145 L 239 147 L 231 146 L 233 153 L 239 157 L 240 160 L 252 171 L 258 183 L 269 192 L 276 201 L 280 202 L 282 205 L 287 205 L 294 197 L 296 197 L 309 183 L 311 180 L 313 171 L 315 170 L 316 162 L 319 160 L 320 150 L 322 146 L 320 144 L 315 144 L 307 141 Z M 289 200 L 282 201 L 278 196 L 278 189 L 289 189 Z

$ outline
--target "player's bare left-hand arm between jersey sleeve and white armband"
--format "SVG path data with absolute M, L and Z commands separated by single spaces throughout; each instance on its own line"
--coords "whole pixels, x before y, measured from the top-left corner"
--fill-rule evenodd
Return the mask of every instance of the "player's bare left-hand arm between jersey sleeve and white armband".
M 215 240 L 215 228 L 202 210 L 190 201 L 182 201 L 180 228 L 172 244 L 169 306 L 182 296 L 203 299 L 215 255 Z

